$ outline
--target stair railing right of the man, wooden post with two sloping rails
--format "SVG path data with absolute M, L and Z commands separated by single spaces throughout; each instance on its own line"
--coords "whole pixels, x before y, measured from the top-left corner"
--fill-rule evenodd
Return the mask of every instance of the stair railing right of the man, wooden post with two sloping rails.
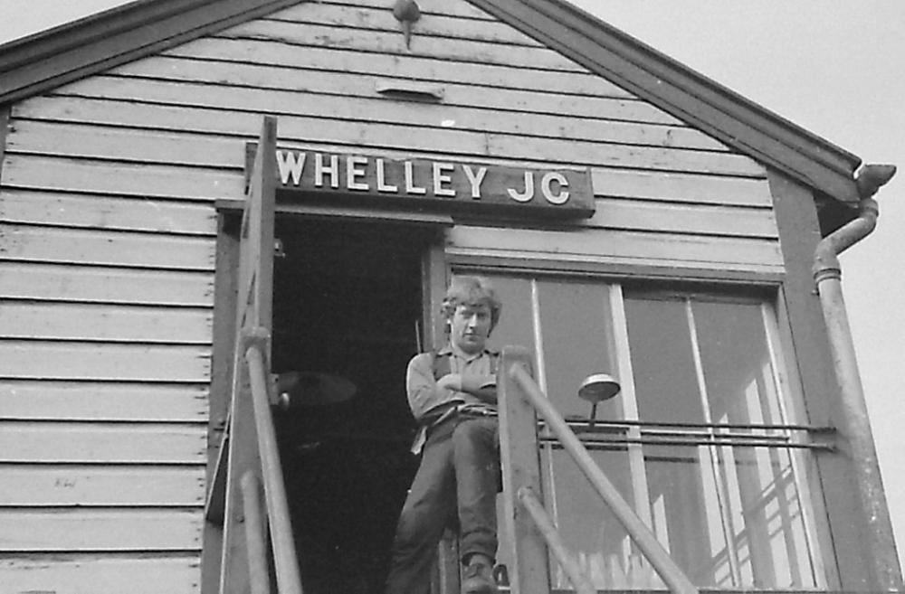
M 698 594 L 688 576 L 663 549 L 656 535 L 634 513 L 603 470 L 597 466 L 566 420 L 548 401 L 529 374 L 530 358 L 526 349 L 503 350 L 498 379 L 500 408 L 500 457 L 503 467 L 503 493 L 506 521 L 511 535 L 515 565 L 512 589 L 520 594 L 548 594 L 547 549 L 554 553 L 572 585 L 580 594 L 595 592 L 590 580 L 567 551 L 552 519 L 538 499 L 540 464 L 538 415 L 575 460 L 595 491 L 622 523 L 626 533 L 650 561 L 653 569 L 674 594 Z

